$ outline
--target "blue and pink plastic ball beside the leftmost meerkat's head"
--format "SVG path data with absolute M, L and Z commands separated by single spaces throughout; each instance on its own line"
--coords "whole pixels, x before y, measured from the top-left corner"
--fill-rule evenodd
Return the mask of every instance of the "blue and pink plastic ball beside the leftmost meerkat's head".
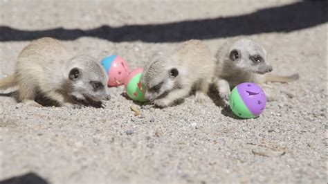
M 109 55 L 102 59 L 102 66 L 108 74 L 108 86 L 119 86 L 124 84 L 129 75 L 129 65 L 118 55 Z

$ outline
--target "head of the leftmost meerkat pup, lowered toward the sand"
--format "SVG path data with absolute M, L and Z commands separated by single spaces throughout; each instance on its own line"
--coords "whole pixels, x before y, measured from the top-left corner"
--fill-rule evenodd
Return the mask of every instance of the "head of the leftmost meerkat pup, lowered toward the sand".
M 70 93 L 78 100 L 107 100 L 108 76 L 93 57 L 80 55 L 67 64 L 66 75 L 71 86 Z

